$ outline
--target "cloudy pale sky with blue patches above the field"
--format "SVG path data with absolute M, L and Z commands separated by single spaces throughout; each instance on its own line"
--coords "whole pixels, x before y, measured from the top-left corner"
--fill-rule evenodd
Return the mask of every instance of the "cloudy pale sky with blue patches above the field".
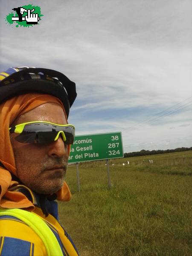
M 0 0 L 0 71 L 44 67 L 76 83 L 76 135 L 122 132 L 124 152 L 192 146 L 191 0 Z M 41 7 L 39 24 L 6 23 Z

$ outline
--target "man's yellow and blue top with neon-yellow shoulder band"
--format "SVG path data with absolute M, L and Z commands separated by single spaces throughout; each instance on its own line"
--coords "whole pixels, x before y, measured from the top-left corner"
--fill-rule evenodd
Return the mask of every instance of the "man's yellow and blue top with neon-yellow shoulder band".
M 78 256 L 70 236 L 40 208 L 0 209 L 0 256 Z

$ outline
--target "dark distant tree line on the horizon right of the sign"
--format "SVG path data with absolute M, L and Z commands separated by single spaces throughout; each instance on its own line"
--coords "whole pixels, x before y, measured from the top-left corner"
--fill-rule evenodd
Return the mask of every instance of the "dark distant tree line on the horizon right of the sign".
M 181 152 L 181 151 L 188 151 L 192 150 L 192 147 L 190 148 L 175 148 L 175 149 L 166 149 L 166 150 L 145 150 L 142 149 L 141 151 L 136 152 L 130 152 L 130 153 L 124 153 L 124 157 L 139 157 L 139 156 L 147 156 L 151 154 L 166 154 L 166 153 L 173 153 L 173 152 Z

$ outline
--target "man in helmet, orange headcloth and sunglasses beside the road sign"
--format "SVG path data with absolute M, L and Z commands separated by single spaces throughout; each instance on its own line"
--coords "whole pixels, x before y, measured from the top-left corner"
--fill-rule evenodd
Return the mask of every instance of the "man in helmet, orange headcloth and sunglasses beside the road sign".
M 0 73 L 0 255 L 76 256 L 58 222 L 75 127 L 76 85 L 64 74 L 17 67 Z

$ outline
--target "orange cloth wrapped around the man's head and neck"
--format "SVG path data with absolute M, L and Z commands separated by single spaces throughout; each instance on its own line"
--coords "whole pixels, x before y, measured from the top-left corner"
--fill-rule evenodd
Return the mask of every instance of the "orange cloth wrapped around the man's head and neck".
M 6 168 L 0 166 L 0 207 L 2 208 L 25 208 L 29 211 L 35 209 L 32 202 L 21 192 L 9 191 L 18 184 L 17 181 L 12 180 L 11 176 L 11 173 L 17 176 L 17 169 L 9 137 L 9 127 L 18 116 L 47 102 L 59 104 L 65 113 L 64 106 L 58 98 L 40 93 L 15 96 L 0 104 L 0 162 Z M 67 119 L 66 113 L 65 116 Z M 70 147 L 68 150 L 70 152 Z M 69 201 L 71 199 L 70 189 L 66 182 L 56 194 L 59 201 Z

